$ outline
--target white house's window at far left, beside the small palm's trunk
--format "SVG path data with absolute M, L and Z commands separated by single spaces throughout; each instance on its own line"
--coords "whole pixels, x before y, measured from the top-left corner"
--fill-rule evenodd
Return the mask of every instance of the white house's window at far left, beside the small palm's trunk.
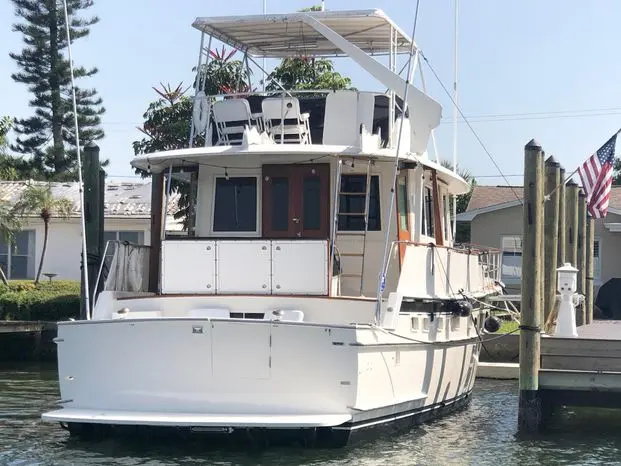
M 0 239 L 0 267 L 10 280 L 34 278 L 34 230 L 19 231 L 13 243 Z

